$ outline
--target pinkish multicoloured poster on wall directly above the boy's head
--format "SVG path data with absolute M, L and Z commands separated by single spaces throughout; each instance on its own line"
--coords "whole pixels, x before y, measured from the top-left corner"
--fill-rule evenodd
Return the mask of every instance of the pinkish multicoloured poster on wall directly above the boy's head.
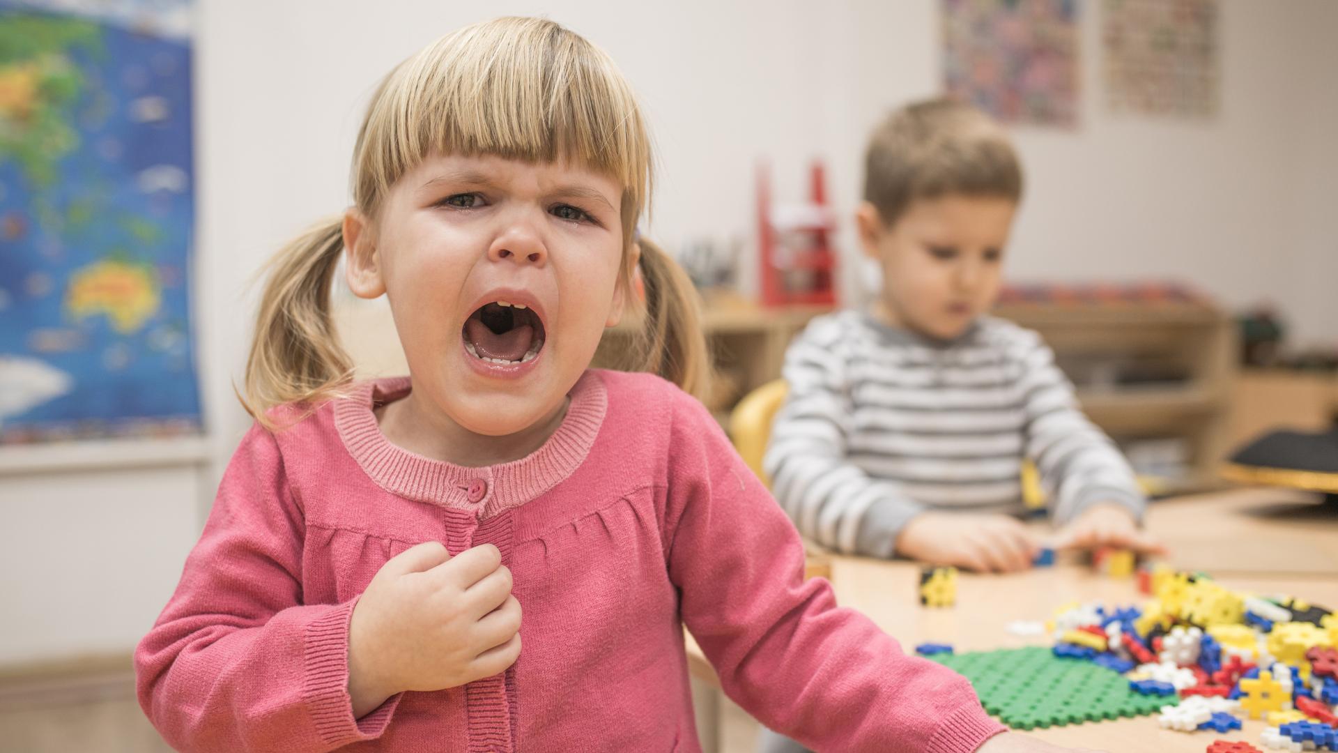
M 1005 123 L 1078 119 L 1077 0 L 943 0 L 947 92 Z

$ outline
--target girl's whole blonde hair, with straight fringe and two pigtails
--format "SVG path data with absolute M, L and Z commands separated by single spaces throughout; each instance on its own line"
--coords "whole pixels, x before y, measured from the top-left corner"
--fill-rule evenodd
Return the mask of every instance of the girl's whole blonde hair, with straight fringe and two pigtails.
M 636 236 L 653 184 L 650 138 L 607 54 L 543 19 L 495 19 L 443 36 L 400 63 L 372 96 L 353 147 L 353 204 L 375 218 L 400 176 L 434 154 L 571 162 L 617 178 L 619 284 L 634 289 L 640 259 L 645 285 L 644 327 L 626 366 L 704 393 L 709 364 L 696 291 L 668 255 Z M 352 381 L 329 316 L 343 251 L 341 217 L 332 217 L 270 263 L 242 399 L 262 422 L 272 406 L 313 405 Z

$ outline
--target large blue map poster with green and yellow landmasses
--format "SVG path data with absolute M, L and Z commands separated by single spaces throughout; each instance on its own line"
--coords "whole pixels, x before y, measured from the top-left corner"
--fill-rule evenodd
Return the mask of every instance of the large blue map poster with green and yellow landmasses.
M 189 19 L 0 0 L 0 445 L 201 431 Z

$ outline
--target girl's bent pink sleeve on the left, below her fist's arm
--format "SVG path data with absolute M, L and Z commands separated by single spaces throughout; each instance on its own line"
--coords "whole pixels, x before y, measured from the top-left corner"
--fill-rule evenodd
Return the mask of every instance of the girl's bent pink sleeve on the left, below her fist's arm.
M 302 512 L 273 435 L 233 456 L 177 592 L 135 651 L 139 705 L 178 750 L 333 750 L 375 740 L 399 702 L 353 720 L 357 599 L 302 602 Z

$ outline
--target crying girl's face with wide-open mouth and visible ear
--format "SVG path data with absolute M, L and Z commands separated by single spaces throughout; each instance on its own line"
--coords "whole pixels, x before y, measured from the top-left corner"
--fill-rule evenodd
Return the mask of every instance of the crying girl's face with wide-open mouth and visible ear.
M 434 157 L 345 220 L 348 280 L 387 293 L 413 395 L 475 434 L 551 418 L 622 315 L 622 188 L 565 163 Z

